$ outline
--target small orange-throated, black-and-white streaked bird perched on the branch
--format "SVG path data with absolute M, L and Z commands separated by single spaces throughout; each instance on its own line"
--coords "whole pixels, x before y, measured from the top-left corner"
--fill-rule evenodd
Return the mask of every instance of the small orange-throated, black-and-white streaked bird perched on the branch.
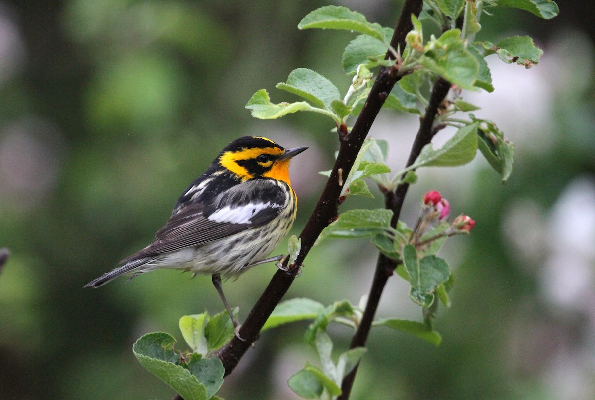
M 296 215 L 289 161 L 307 147 L 284 149 L 266 137 L 229 143 L 180 196 L 155 242 L 120 261 L 121 267 L 84 287 L 99 287 L 122 274 L 171 268 L 211 274 L 234 326 L 221 276 L 237 277 L 263 260 L 287 234 Z

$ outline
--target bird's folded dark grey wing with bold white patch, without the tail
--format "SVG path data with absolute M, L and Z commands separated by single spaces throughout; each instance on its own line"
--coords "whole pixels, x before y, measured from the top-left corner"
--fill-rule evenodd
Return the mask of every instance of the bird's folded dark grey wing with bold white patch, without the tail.
M 240 183 L 222 192 L 212 204 L 187 205 L 158 230 L 154 243 L 121 262 L 202 245 L 262 226 L 280 214 L 285 197 L 271 179 Z

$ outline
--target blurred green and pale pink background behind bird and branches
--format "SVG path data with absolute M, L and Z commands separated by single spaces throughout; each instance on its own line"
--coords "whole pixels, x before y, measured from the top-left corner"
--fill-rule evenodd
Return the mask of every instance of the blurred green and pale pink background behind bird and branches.
M 318 115 L 259 121 L 244 105 L 262 87 L 275 102 L 292 99 L 274 85 L 297 67 L 345 92 L 340 56 L 353 35 L 297 29 L 324 4 L 0 1 L 0 247 L 11 251 L 0 273 L 0 399 L 174 395 L 131 346 L 159 330 L 184 348 L 181 315 L 222 310 L 211 280 L 155 271 L 97 290 L 83 285 L 148 244 L 182 190 L 242 135 L 310 146 L 292 164 L 300 232 L 324 185 L 317 171 L 330 168 L 337 148 L 332 126 Z M 332 4 L 394 26 L 402 2 Z M 406 222 L 430 189 L 453 214 L 477 221 L 441 253 L 456 274 L 452 308 L 436 321 L 443 344 L 372 330 L 353 399 L 595 398 L 595 9 L 558 4 L 552 21 L 513 10 L 483 18 L 479 38 L 528 34 L 545 51 L 530 70 L 491 56 L 496 91 L 465 93 L 483 106 L 475 114 L 515 142 L 515 170 L 507 185 L 481 157 L 420 171 Z M 372 128 L 389 140 L 394 170 L 417 123 L 383 111 Z M 350 198 L 342 209 L 381 204 L 381 196 Z M 287 298 L 357 304 L 375 257 L 365 240 L 321 243 Z M 224 283 L 241 318 L 273 271 L 261 265 Z M 398 277 L 378 316 L 421 319 Z M 303 344 L 306 326 L 264 333 L 220 394 L 295 399 L 287 378 L 316 361 Z M 349 329 L 331 335 L 346 348 Z

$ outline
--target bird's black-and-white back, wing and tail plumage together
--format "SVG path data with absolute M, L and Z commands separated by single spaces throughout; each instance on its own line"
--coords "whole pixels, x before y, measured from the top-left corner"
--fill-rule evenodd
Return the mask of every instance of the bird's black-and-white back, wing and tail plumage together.
M 169 261 L 167 256 L 263 227 L 279 217 L 281 212 L 287 211 L 287 202 L 290 199 L 287 190 L 281 187 L 285 183 L 258 178 L 226 184 L 226 180 L 219 177 L 217 186 L 214 186 L 212 178 L 207 176 L 205 173 L 183 193 L 170 219 L 156 233 L 154 243 L 124 258 L 120 261 L 120 264 L 124 265 L 92 280 L 85 287 L 99 287 L 121 274 L 154 269 L 155 267 L 143 267 L 156 260 L 165 260 L 159 261 L 163 264 L 175 263 L 176 261 Z M 291 212 L 295 212 L 295 204 L 290 206 Z M 170 259 L 176 260 L 176 257 Z M 159 266 L 175 267 L 161 264 Z

